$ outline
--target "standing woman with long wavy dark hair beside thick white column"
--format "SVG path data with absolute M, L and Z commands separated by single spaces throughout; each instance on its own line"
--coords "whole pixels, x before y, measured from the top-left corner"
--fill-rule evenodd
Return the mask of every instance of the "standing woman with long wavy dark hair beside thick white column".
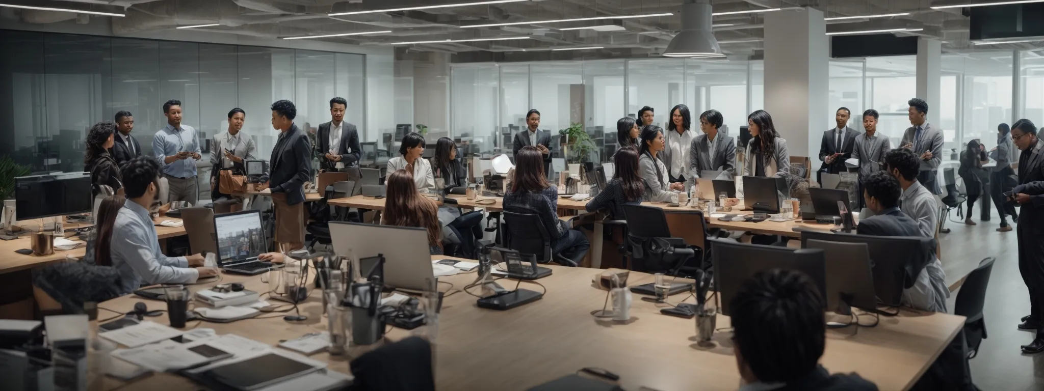
M 773 125 L 773 117 L 759 109 L 746 117 L 746 123 L 752 139 L 746 144 L 743 176 L 785 177 L 790 172 L 790 154 L 786 150 L 786 140 Z

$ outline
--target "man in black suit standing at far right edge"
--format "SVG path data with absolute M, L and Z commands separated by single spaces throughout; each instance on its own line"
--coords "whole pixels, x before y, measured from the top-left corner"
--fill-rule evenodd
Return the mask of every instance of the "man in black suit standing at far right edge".
M 1022 205 L 1017 229 L 1019 272 L 1029 289 L 1029 316 L 1022 318 L 1022 329 L 1037 329 L 1037 337 L 1022 345 L 1026 353 L 1044 351 L 1044 140 L 1037 137 L 1037 126 L 1029 120 L 1012 125 L 1012 141 L 1022 151 L 1019 155 L 1019 185 L 1011 199 Z

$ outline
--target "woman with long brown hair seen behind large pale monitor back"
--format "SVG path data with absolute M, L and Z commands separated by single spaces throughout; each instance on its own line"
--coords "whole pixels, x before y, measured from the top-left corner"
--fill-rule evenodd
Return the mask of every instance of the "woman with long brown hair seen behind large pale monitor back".
M 388 174 L 384 180 L 387 200 L 384 201 L 384 225 L 412 226 L 428 230 L 428 248 L 432 254 L 443 253 L 443 228 L 438 223 L 438 204 L 421 195 L 413 176 L 406 170 Z

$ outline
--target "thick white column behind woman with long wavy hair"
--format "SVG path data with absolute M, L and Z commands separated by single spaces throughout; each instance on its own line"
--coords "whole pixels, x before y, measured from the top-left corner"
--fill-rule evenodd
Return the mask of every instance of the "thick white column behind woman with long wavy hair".
M 830 111 L 826 33 L 823 11 L 815 8 L 765 14 L 765 111 L 790 155 L 813 162 L 823 131 L 833 126 L 825 122 Z

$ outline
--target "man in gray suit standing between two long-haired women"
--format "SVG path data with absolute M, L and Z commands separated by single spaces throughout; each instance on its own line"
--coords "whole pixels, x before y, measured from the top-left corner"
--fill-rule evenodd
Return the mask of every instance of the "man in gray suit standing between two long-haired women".
M 689 148 L 689 175 L 703 177 L 704 171 L 721 171 L 716 178 L 734 180 L 736 176 L 736 141 L 721 131 L 723 117 L 716 109 L 699 115 L 703 135 L 692 139 Z

